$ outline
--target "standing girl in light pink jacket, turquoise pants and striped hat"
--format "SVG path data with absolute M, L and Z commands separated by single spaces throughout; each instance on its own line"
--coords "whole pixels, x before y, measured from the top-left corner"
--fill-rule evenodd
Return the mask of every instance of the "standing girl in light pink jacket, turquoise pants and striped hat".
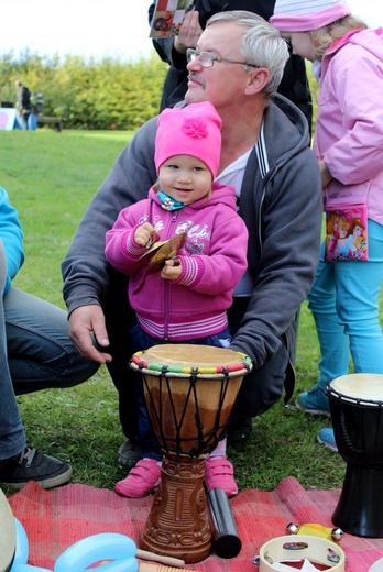
M 350 353 L 357 373 L 383 374 L 383 29 L 369 29 L 344 0 L 276 0 L 271 23 L 289 40 L 293 53 L 314 62 L 320 82 L 314 151 L 327 220 L 343 220 L 344 235 L 358 221 L 362 234 L 359 248 L 343 248 L 338 258 L 326 256 L 324 242 L 308 296 L 320 375 L 297 405 L 328 415 L 327 385 L 349 373 Z M 337 450 L 332 429 L 322 429 L 318 441 Z

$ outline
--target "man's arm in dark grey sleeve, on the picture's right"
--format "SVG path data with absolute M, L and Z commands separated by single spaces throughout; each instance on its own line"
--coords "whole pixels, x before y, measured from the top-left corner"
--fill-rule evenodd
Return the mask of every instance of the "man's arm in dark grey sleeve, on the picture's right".
M 242 205 L 241 208 L 245 208 Z M 247 209 L 249 210 L 249 209 Z M 249 253 L 254 289 L 232 349 L 261 367 L 273 359 L 313 284 L 319 260 L 322 218 L 320 173 L 307 147 L 269 182 L 262 205 L 262 248 Z M 248 217 L 247 217 L 248 218 Z M 255 243 L 252 212 L 250 244 Z

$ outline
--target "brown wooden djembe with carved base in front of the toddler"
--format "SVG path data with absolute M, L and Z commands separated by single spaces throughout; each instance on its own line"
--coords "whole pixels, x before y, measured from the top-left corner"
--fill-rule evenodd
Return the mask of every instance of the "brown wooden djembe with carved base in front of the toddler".
M 251 361 L 223 348 L 166 344 L 135 353 L 130 365 L 142 376 L 149 417 L 164 452 L 142 548 L 199 562 L 212 542 L 205 457 L 223 436 Z

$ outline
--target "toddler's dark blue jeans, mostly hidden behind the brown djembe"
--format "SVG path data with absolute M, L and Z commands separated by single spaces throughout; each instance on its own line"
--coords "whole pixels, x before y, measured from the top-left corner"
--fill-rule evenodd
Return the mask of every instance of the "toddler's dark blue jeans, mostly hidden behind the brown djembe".
M 130 330 L 133 353 L 152 348 L 153 345 L 162 345 L 164 342 L 156 338 L 152 338 L 144 332 L 139 324 L 133 326 Z M 183 341 L 182 343 L 199 344 L 199 345 L 215 345 L 217 348 L 227 348 L 230 344 L 231 336 L 228 329 L 215 336 L 207 338 L 199 338 L 197 340 Z M 160 446 L 152 430 L 145 407 L 145 398 L 143 395 L 143 383 L 141 376 L 136 376 L 136 400 L 138 400 L 138 443 L 141 448 L 142 454 L 149 459 L 161 460 L 163 454 Z

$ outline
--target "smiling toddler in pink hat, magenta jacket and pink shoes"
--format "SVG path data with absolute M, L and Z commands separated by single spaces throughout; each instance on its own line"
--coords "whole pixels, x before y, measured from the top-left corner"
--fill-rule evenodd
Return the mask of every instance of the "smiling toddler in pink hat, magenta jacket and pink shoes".
M 215 183 L 221 150 L 221 119 L 209 102 L 165 109 L 157 121 L 155 165 L 158 180 L 146 199 L 124 208 L 106 235 L 106 256 L 129 279 L 136 324 L 134 351 L 160 343 L 228 346 L 227 309 L 247 270 L 248 230 L 237 213 L 233 187 Z M 149 268 L 147 248 L 185 233 L 176 256 L 157 272 Z M 139 444 L 143 459 L 114 491 L 144 496 L 160 483 L 162 453 L 138 396 Z M 226 440 L 205 463 L 208 490 L 237 494 Z

